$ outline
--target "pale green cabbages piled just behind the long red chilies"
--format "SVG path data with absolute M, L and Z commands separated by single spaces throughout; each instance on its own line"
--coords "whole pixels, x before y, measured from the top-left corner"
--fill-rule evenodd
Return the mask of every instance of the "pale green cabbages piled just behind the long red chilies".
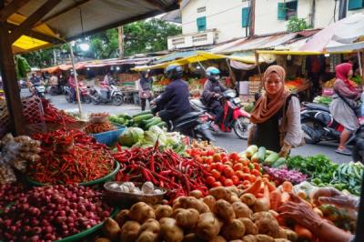
M 183 136 L 177 132 L 165 132 L 159 126 L 150 126 L 147 131 L 139 127 L 128 127 L 118 138 L 118 143 L 125 147 L 147 148 L 158 142 L 160 149 L 173 149 L 177 154 L 185 154 Z

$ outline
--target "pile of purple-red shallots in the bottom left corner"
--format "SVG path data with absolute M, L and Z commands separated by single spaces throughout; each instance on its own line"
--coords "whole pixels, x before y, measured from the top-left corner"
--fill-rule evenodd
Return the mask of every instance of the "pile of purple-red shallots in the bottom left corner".
M 102 202 L 102 193 L 89 187 L 57 185 L 17 194 L 16 190 L 8 191 L 15 200 L 0 219 L 0 240 L 59 240 L 96 226 L 111 212 Z

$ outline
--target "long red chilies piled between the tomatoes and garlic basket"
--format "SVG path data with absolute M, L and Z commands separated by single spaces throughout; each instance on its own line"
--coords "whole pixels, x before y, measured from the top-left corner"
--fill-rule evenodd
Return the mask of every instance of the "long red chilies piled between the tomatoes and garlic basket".
M 146 182 L 167 190 L 170 202 L 176 197 L 187 196 L 198 189 L 207 195 L 206 168 L 193 159 L 179 156 L 173 150 L 160 151 L 158 145 L 148 148 L 134 147 L 114 154 L 121 169 L 116 181 Z

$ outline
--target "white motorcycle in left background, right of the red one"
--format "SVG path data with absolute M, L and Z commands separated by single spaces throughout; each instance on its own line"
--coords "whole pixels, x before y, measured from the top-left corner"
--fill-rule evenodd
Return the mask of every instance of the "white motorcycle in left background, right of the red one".
M 120 89 L 113 84 L 101 84 L 100 88 L 91 88 L 90 95 L 94 105 L 112 103 L 115 106 L 120 106 L 123 104 L 123 94 Z

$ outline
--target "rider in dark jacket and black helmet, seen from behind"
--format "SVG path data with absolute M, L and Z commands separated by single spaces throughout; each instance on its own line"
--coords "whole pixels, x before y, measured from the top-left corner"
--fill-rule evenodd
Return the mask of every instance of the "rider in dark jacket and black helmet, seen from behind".
M 157 113 L 157 116 L 160 116 L 163 121 L 167 122 L 189 113 L 190 106 L 188 85 L 182 79 L 182 67 L 178 65 L 169 65 L 167 66 L 165 73 L 167 78 L 172 82 L 166 87 L 165 92 L 157 98 L 157 101 L 155 102 L 161 110 Z

